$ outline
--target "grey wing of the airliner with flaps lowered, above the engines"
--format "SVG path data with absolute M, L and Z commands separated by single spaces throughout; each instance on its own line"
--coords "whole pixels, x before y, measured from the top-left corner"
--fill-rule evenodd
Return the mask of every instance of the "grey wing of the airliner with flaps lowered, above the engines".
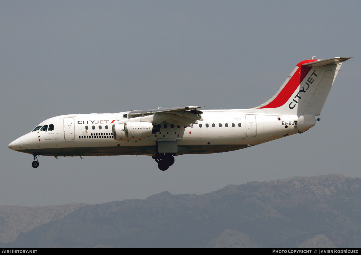
M 204 106 L 187 106 L 187 107 L 174 107 L 174 108 L 159 108 L 151 110 L 136 110 L 129 112 L 129 118 L 140 117 L 144 121 L 153 124 L 160 124 L 162 122 L 169 122 L 170 124 L 179 126 L 191 126 L 197 124 L 198 120 L 203 120 L 201 117 L 202 111 L 198 110 Z

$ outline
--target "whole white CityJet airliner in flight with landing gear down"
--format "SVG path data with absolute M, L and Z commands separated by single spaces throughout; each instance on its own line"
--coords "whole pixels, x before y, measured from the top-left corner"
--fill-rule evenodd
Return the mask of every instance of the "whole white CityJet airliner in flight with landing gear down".
M 234 151 L 315 125 L 343 61 L 297 64 L 276 94 L 251 109 L 202 110 L 198 106 L 102 114 L 68 114 L 41 122 L 8 147 L 38 155 L 148 155 L 167 170 L 174 156 Z

